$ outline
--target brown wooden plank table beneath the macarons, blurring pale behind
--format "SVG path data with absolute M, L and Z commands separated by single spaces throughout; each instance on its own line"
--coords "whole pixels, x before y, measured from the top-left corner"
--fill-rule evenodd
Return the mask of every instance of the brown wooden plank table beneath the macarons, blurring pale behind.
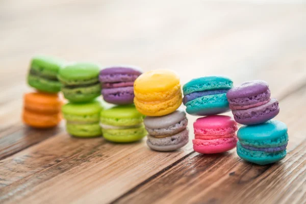
M 274 2 L 0 1 L 0 202 L 305 203 L 306 5 Z M 289 127 L 288 155 L 266 166 L 235 150 L 199 155 L 194 116 L 189 144 L 174 152 L 72 138 L 64 122 L 31 129 L 20 113 L 36 53 L 169 68 L 183 84 L 209 74 L 265 80 Z

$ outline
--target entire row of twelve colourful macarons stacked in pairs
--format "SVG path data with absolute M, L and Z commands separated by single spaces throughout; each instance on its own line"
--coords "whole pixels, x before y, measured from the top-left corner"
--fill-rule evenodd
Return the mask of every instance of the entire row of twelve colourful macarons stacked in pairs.
M 54 127 L 63 113 L 72 136 L 104 135 L 108 141 L 125 143 L 147 135 L 151 149 L 171 151 L 189 140 L 186 113 L 179 108 L 183 103 L 187 113 L 205 116 L 193 123 L 193 148 L 201 154 L 220 153 L 237 145 L 239 157 L 259 165 L 280 161 L 287 154 L 288 128 L 272 120 L 279 113 L 278 101 L 271 98 L 264 81 L 233 88 L 232 80 L 221 75 L 197 78 L 183 86 L 182 99 L 180 78 L 171 70 L 100 69 L 94 63 L 64 64 L 56 58 L 35 56 L 28 84 L 37 90 L 24 94 L 22 119 L 29 126 Z M 60 91 L 69 100 L 64 106 Z M 99 95 L 112 106 L 105 109 Z M 230 110 L 234 119 L 218 115 Z M 243 124 L 239 130 L 238 123 Z

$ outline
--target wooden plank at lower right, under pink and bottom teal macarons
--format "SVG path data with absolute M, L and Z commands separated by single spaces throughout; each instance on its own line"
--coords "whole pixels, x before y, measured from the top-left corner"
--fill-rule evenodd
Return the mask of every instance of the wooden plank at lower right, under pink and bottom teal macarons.
M 288 156 L 274 165 L 242 161 L 235 150 L 196 152 L 114 203 L 304 203 L 306 189 L 306 85 L 281 101 L 276 119 L 289 127 Z M 161 190 L 162 189 L 162 190 Z

